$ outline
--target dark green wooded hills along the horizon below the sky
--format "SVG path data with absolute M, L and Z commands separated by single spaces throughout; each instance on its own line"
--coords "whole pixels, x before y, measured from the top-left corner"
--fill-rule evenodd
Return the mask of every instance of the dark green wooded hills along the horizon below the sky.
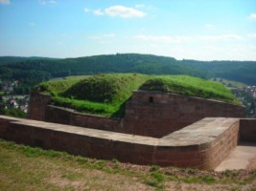
M 221 77 L 255 85 L 256 61 L 176 60 L 138 53 L 65 59 L 0 57 L 0 79 L 16 79 L 28 87 L 55 77 L 105 73 L 186 74 L 204 79 Z

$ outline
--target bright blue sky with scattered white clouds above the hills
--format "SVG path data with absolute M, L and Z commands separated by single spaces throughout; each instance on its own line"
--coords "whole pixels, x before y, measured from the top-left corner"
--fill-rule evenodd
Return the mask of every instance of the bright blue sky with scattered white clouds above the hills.
M 256 60 L 256 0 L 0 0 L 0 55 Z

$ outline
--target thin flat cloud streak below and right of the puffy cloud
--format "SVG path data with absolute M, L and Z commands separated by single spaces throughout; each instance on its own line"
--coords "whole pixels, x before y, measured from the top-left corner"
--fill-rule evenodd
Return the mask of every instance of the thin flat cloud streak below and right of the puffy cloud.
M 136 35 L 135 39 L 157 43 L 183 43 L 191 40 L 190 36 Z

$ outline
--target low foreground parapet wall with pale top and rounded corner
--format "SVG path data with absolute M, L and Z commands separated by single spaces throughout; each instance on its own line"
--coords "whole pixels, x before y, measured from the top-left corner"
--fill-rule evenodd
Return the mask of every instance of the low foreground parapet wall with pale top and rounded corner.
M 97 159 L 215 168 L 237 145 L 239 119 L 204 118 L 163 138 L 0 116 L 0 138 Z

